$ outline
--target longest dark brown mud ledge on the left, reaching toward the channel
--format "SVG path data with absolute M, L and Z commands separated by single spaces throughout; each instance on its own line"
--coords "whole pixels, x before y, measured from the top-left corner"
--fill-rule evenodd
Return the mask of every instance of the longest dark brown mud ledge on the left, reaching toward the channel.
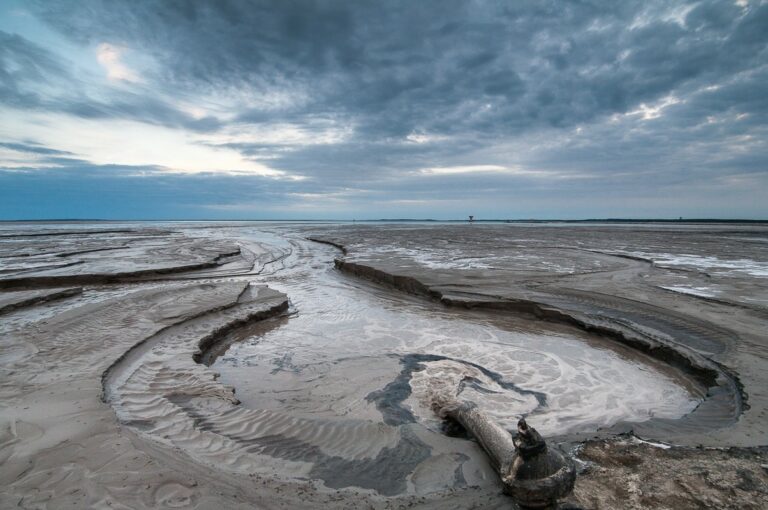
M 30 289 L 41 287 L 54 287 L 61 285 L 99 285 L 110 283 L 130 282 L 133 280 L 146 280 L 152 277 L 163 275 L 185 273 L 201 269 L 210 269 L 221 265 L 222 260 L 227 257 L 234 257 L 240 254 L 240 248 L 226 253 L 219 253 L 214 258 L 206 262 L 186 264 L 173 267 L 142 269 L 138 271 L 126 271 L 117 273 L 90 273 L 90 274 L 71 274 L 60 276 L 25 276 L 18 278 L 0 279 L 0 290 Z M 82 262 L 73 262 L 69 265 L 82 264 Z M 59 266 L 66 267 L 66 266 Z

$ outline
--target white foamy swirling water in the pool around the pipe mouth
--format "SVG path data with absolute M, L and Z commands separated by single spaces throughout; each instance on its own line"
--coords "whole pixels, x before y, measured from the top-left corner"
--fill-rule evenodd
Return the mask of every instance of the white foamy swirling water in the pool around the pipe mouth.
M 413 374 L 407 404 L 430 428 L 439 426 L 431 409 L 435 399 L 453 398 L 474 402 L 510 430 L 525 416 L 546 435 L 594 430 L 621 420 L 677 418 L 698 404 L 673 380 L 640 362 L 575 339 L 537 340 L 536 350 L 495 342 L 432 345 L 433 353 L 461 362 L 424 363 L 426 368 Z M 498 374 L 508 387 L 468 363 Z M 531 391 L 544 395 L 546 404 L 539 406 Z

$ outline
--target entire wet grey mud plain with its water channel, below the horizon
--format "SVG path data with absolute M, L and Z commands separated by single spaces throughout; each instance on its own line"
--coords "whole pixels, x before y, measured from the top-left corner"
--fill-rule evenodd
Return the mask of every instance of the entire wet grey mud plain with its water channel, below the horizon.
M 585 507 L 759 508 L 767 249 L 755 226 L 3 226 L 0 506 L 511 507 L 449 395 L 574 453 Z

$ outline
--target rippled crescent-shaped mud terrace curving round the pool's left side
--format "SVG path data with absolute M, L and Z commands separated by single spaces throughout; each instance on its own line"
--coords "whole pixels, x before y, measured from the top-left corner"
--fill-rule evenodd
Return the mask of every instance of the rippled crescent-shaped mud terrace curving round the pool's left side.
M 160 332 L 108 371 L 106 398 L 140 434 L 217 468 L 320 479 L 329 487 L 385 495 L 405 491 L 406 477 L 430 456 L 408 429 L 240 407 L 232 388 L 194 361 L 199 346 L 226 328 L 285 307 L 282 294 L 249 287 L 238 306 Z

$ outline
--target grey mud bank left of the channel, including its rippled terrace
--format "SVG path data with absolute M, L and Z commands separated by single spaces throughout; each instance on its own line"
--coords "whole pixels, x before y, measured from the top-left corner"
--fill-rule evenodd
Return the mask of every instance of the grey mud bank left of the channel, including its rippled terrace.
M 175 242 L 164 237 L 156 241 Z M 57 252 L 67 242 L 56 238 Z M 208 242 L 212 252 L 232 245 Z M 493 485 L 482 466 L 456 489 L 405 494 L 456 476 L 439 462 L 422 465 L 431 446 L 418 431 L 239 405 L 198 361 L 285 311 L 284 294 L 250 281 L 289 267 L 298 247 L 245 245 L 217 268 L 178 274 L 197 283 L 108 279 L 34 302 L 54 291 L 0 292 L 27 304 L 4 314 L 0 339 L 0 507 L 505 507 L 502 495 L 472 484 L 470 474 Z M 88 256 L 103 264 L 111 251 Z M 475 448 L 460 446 L 459 464 Z

